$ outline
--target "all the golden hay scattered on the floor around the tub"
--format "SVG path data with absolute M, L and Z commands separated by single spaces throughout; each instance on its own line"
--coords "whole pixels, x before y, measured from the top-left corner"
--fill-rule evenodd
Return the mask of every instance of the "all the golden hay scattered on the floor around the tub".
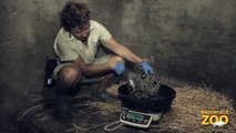
M 173 101 L 172 108 L 166 112 L 161 119 L 158 124 L 152 124 L 151 129 L 147 132 L 232 132 L 236 131 L 236 112 L 233 109 L 232 102 L 224 94 L 218 93 L 208 88 L 198 88 L 188 85 L 187 83 L 170 83 L 165 82 L 164 84 L 172 84 L 172 88 L 176 91 L 176 98 Z M 174 85 L 173 85 L 174 84 Z M 181 84 L 181 86 L 179 86 Z M 107 92 L 114 95 L 117 95 L 117 84 L 113 84 L 107 88 Z M 89 105 L 95 110 L 91 115 L 95 113 L 103 114 L 117 114 L 121 112 L 122 105 L 120 101 L 116 102 L 101 102 L 101 101 L 88 101 L 80 102 L 74 104 L 79 109 L 82 105 Z M 33 110 L 37 111 L 38 108 L 42 105 L 32 106 L 20 113 L 20 116 L 23 117 L 27 114 L 33 113 Z M 40 109 L 38 109 L 40 111 Z M 83 111 L 83 110 L 82 110 Z M 84 112 L 78 112 L 78 115 L 83 115 Z M 228 111 L 229 123 L 222 127 L 214 127 L 213 125 L 202 125 L 202 111 Z M 82 114 L 81 114 L 82 112 Z M 85 114 L 85 113 L 84 113 Z M 119 117 L 117 117 L 119 119 Z M 83 120 L 83 119 L 82 119 Z M 88 124 L 84 120 L 83 124 Z M 78 124 L 78 123 L 76 123 Z M 80 123 L 81 124 L 81 123 Z M 75 125 L 73 125 L 75 126 Z M 96 125 L 95 125 L 96 126 Z M 79 127 L 79 124 L 76 129 Z M 94 126 L 92 126 L 94 127 Z M 88 130 L 88 129 L 86 129 Z M 123 129 L 125 130 L 125 129 Z M 129 130 L 129 129 L 126 129 Z M 83 129 L 82 129 L 83 131 Z M 138 130 L 141 131 L 141 130 Z

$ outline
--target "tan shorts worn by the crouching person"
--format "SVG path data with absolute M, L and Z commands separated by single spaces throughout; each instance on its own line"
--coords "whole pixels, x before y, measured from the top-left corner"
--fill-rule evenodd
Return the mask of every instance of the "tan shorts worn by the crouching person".
M 101 58 L 96 58 L 95 61 L 92 64 L 103 64 L 103 63 L 106 63 L 111 57 L 112 57 L 111 54 L 106 54 L 106 55 L 103 55 Z M 57 80 L 59 71 L 63 66 L 66 66 L 66 65 L 74 65 L 74 66 L 76 66 L 74 63 L 70 63 L 70 62 L 59 64 L 58 66 L 55 66 L 55 69 L 53 71 L 53 79 Z

